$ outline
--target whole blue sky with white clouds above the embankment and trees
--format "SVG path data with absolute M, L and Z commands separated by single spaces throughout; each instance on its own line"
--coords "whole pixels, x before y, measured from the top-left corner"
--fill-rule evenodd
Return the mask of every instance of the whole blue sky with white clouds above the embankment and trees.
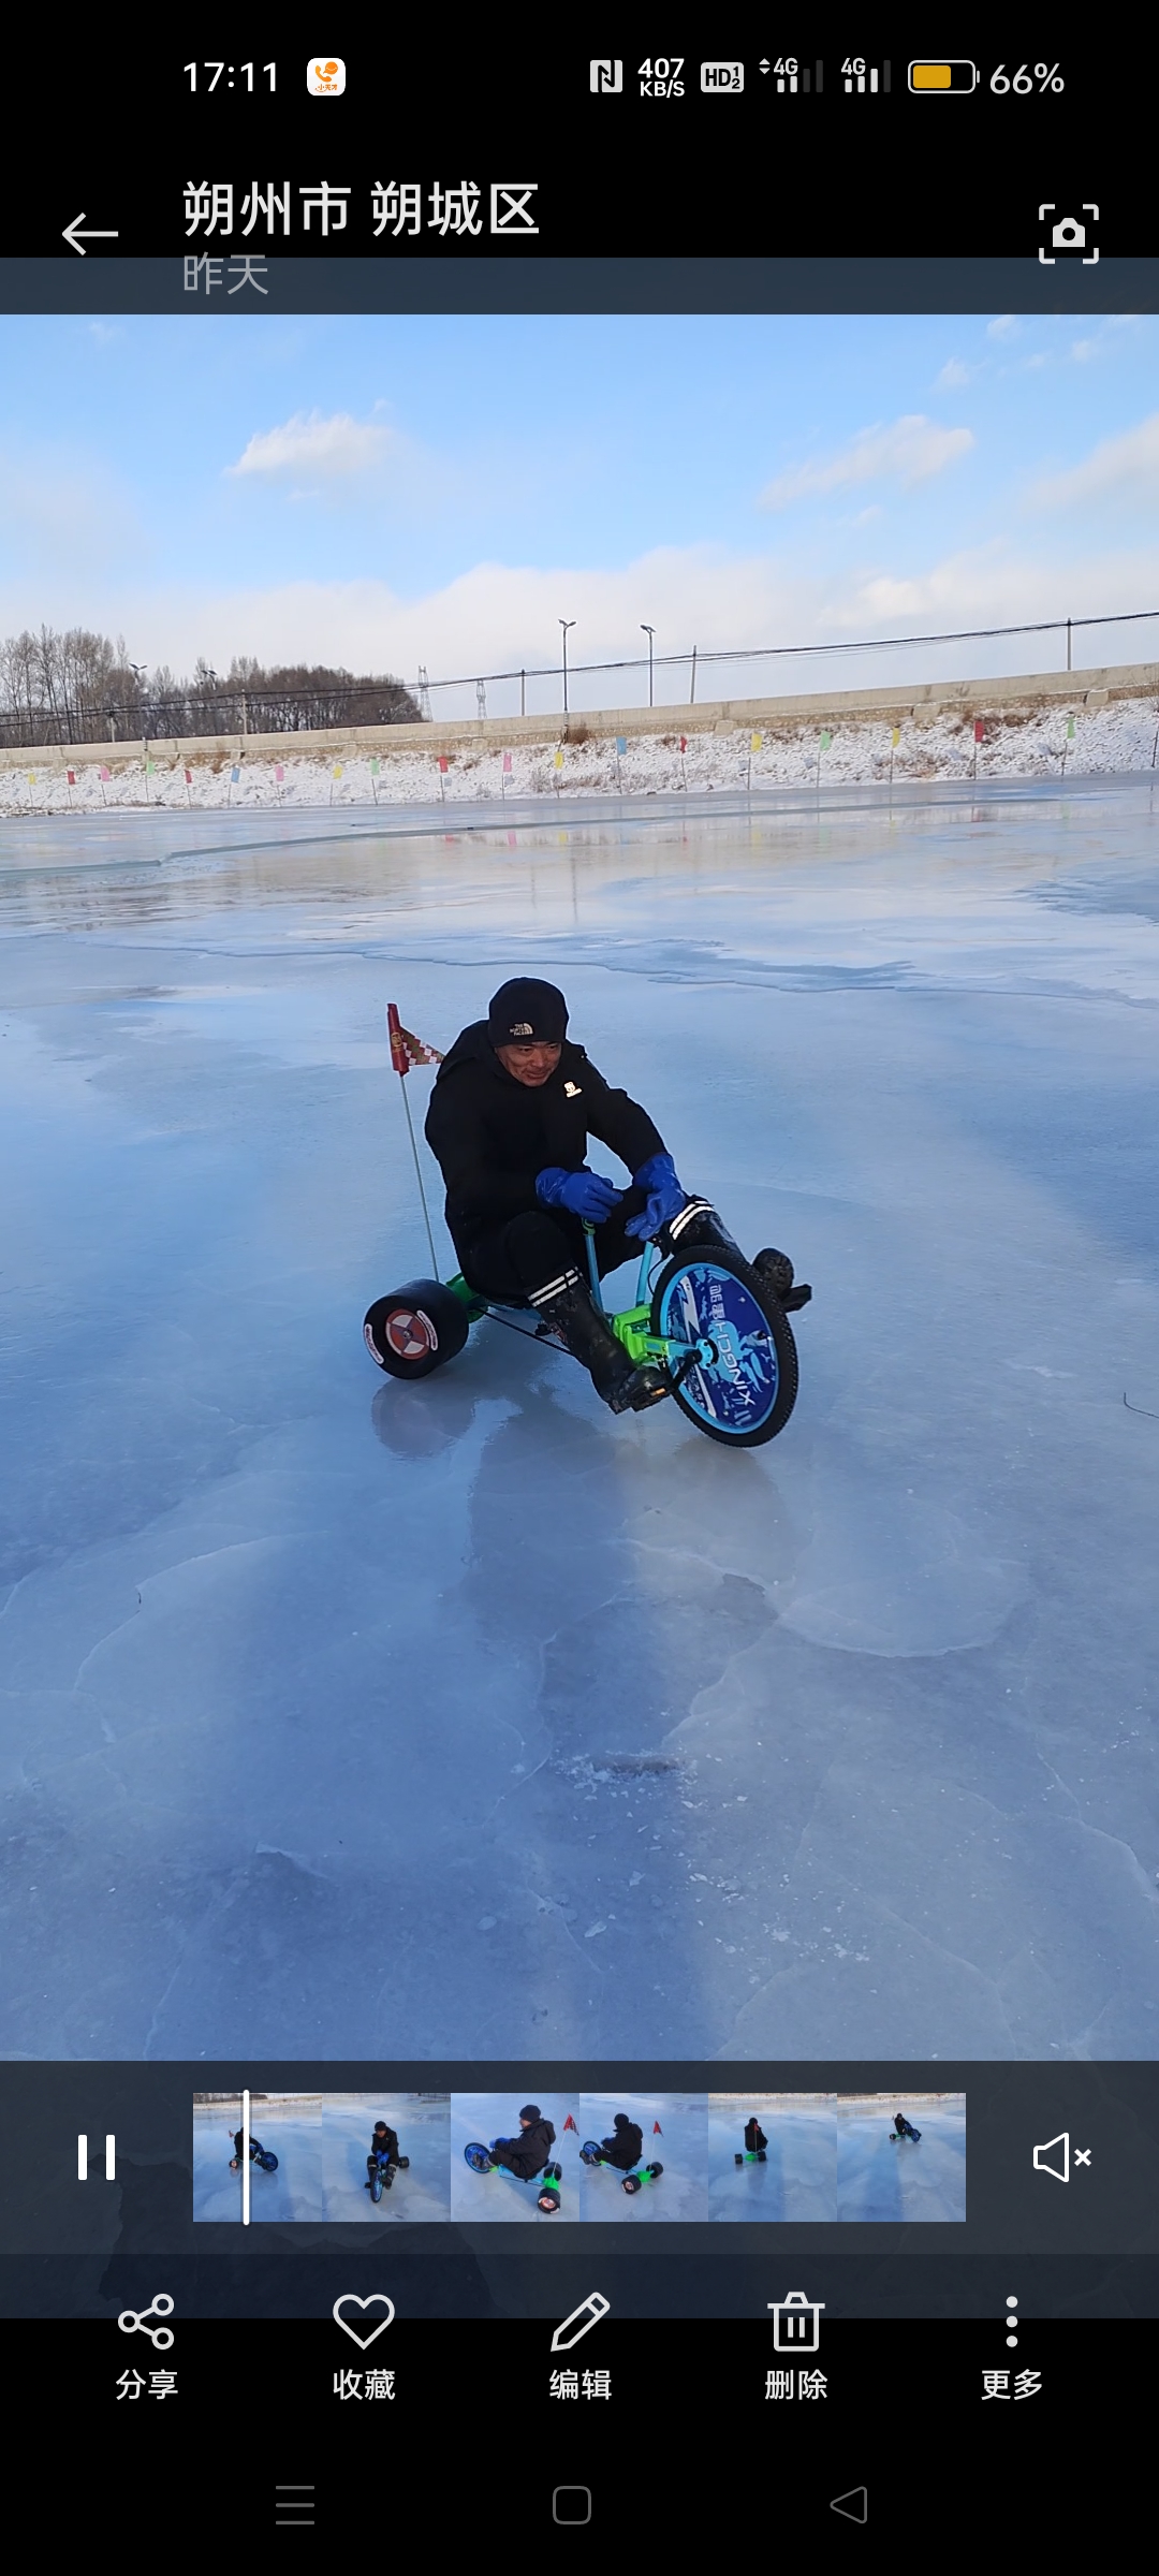
M 554 662 L 561 616 L 585 662 L 646 652 L 641 621 L 685 654 L 1151 608 L 1156 355 L 1151 317 L 5 319 L 0 634 L 435 677 Z M 698 696 L 1056 665 L 953 647 Z

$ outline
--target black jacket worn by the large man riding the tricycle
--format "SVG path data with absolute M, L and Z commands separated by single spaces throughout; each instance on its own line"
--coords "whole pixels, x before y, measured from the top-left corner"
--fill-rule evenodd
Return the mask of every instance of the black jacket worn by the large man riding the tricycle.
M 582 1046 L 564 1041 L 538 1090 L 515 1082 L 476 1020 L 440 1064 L 425 1136 L 446 1180 L 446 1221 L 458 1260 L 510 1216 L 538 1208 L 536 1175 L 582 1172 L 587 1139 L 608 1144 L 628 1172 L 664 1151 L 659 1128 L 628 1092 L 613 1092 Z

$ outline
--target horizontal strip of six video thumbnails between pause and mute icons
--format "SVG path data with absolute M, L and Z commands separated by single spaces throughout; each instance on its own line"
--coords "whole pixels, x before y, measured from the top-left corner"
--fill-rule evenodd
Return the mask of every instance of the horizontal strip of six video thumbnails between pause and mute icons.
M 966 2221 L 966 2094 L 193 2097 L 193 2218 Z

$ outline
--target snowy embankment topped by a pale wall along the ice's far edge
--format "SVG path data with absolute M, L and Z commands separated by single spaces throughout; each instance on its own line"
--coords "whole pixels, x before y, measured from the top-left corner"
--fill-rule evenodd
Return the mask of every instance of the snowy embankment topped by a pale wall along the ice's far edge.
M 1159 755 L 1159 665 L 925 688 L 332 734 L 46 744 L 0 755 L 3 814 L 371 809 L 1126 775 Z

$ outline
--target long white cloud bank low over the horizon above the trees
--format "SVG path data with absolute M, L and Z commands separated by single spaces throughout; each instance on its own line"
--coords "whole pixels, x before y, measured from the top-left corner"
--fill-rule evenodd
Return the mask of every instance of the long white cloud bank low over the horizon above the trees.
M 263 662 L 340 662 L 348 670 L 391 670 L 415 680 L 425 662 L 433 680 L 464 677 L 456 696 L 435 696 L 446 714 L 474 714 L 471 672 L 515 672 L 489 688 L 492 714 L 515 714 L 518 672 L 559 665 L 559 616 L 577 618 L 567 654 L 577 708 L 646 701 L 646 675 L 577 670 L 587 662 L 628 662 L 646 652 L 641 618 L 657 629 L 657 654 L 760 647 L 840 647 L 881 634 L 953 634 L 984 626 L 1025 626 L 1035 618 L 1082 618 L 1107 611 L 1154 608 L 1159 598 L 1159 541 L 1095 551 L 1079 541 L 1051 544 L 1041 554 L 1007 541 L 927 559 L 909 569 L 894 556 L 894 538 L 878 562 L 850 562 L 845 572 L 814 574 L 775 554 L 726 554 L 713 546 L 657 549 L 603 569 L 474 564 L 458 580 L 422 598 L 399 598 L 379 580 L 283 582 L 278 587 L 193 590 L 155 587 L 144 580 L 77 580 L 57 569 L 44 582 L 15 582 L 0 595 L 0 634 L 39 623 L 85 623 L 124 631 L 131 652 L 149 665 L 191 670 L 196 654 L 224 670 L 234 652 Z M 1092 629 L 1074 639 L 1084 667 L 1131 662 L 1159 649 L 1154 626 Z M 935 677 L 938 672 L 1053 670 L 1064 639 L 997 636 L 979 644 L 909 649 L 904 654 L 832 654 L 783 662 L 698 665 L 695 696 L 760 696 L 765 690 L 868 688 Z M 657 667 L 657 698 L 680 703 L 688 662 Z M 528 708 L 559 706 L 559 680 L 528 680 Z

